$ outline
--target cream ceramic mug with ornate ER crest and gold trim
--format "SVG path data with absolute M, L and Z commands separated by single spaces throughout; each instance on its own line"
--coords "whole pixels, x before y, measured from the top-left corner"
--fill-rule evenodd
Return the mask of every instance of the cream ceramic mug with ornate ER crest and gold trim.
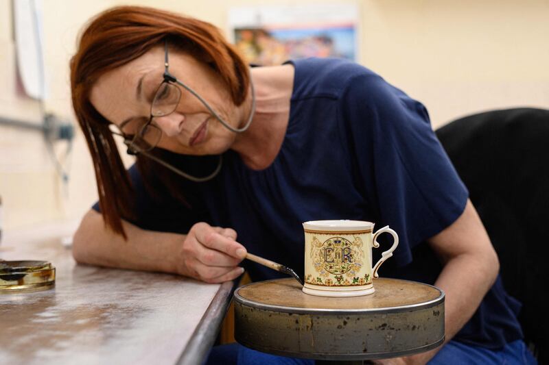
M 373 234 L 374 223 L 366 221 L 309 221 L 305 231 L 306 294 L 322 297 L 358 297 L 372 294 L 379 266 L 393 256 L 399 236 L 389 226 Z M 393 236 L 393 246 L 372 267 L 372 248 L 379 247 L 382 233 Z

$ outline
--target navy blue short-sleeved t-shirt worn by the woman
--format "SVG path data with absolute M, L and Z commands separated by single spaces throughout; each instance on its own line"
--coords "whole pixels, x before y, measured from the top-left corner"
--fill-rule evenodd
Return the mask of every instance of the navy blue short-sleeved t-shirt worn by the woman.
M 399 235 L 394 256 L 379 274 L 433 284 L 442 266 L 425 240 L 456 221 L 468 192 L 424 106 L 352 62 L 313 58 L 291 63 L 290 121 L 274 162 L 254 171 L 227 151 L 215 179 L 181 182 L 187 204 L 148 177 L 159 193 L 153 198 L 133 166 L 137 219 L 132 223 L 183 234 L 198 221 L 231 227 L 250 253 L 294 268 L 303 277 L 302 222 L 371 221 L 377 227 L 389 225 Z M 171 158 L 187 172 L 208 159 Z M 374 250 L 374 260 L 386 247 Z M 253 262 L 243 264 L 253 280 L 281 277 Z M 499 348 L 522 338 L 518 309 L 498 280 L 455 339 Z

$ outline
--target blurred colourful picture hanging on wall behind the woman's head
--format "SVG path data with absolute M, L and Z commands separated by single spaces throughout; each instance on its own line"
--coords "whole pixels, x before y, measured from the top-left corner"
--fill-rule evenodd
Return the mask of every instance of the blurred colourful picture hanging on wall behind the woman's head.
M 358 7 L 311 4 L 232 8 L 229 36 L 251 64 L 307 57 L 358 58 Z

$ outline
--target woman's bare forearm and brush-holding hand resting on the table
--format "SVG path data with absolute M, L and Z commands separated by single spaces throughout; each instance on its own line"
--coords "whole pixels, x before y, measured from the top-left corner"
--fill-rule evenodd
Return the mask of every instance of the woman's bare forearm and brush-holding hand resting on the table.
M 220 283 L 235 279 L 246 249 L 233 229 L 196 223 L 189 234 L 147 231 L 122 221 L 128 240 L 107 229 L 103 217 L 90 210 L 73 238 L 77 262 L 115 268 L 162 271 Z

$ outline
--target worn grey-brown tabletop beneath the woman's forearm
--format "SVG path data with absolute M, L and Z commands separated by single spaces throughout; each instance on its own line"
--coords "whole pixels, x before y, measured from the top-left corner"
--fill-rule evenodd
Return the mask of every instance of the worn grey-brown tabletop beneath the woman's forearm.
M 0 294 L 0 364 L 200 364 L 232 283 L 78 265 L 75 222 L 4 232 L 3 260 L 46 260 L 56 287 Z

